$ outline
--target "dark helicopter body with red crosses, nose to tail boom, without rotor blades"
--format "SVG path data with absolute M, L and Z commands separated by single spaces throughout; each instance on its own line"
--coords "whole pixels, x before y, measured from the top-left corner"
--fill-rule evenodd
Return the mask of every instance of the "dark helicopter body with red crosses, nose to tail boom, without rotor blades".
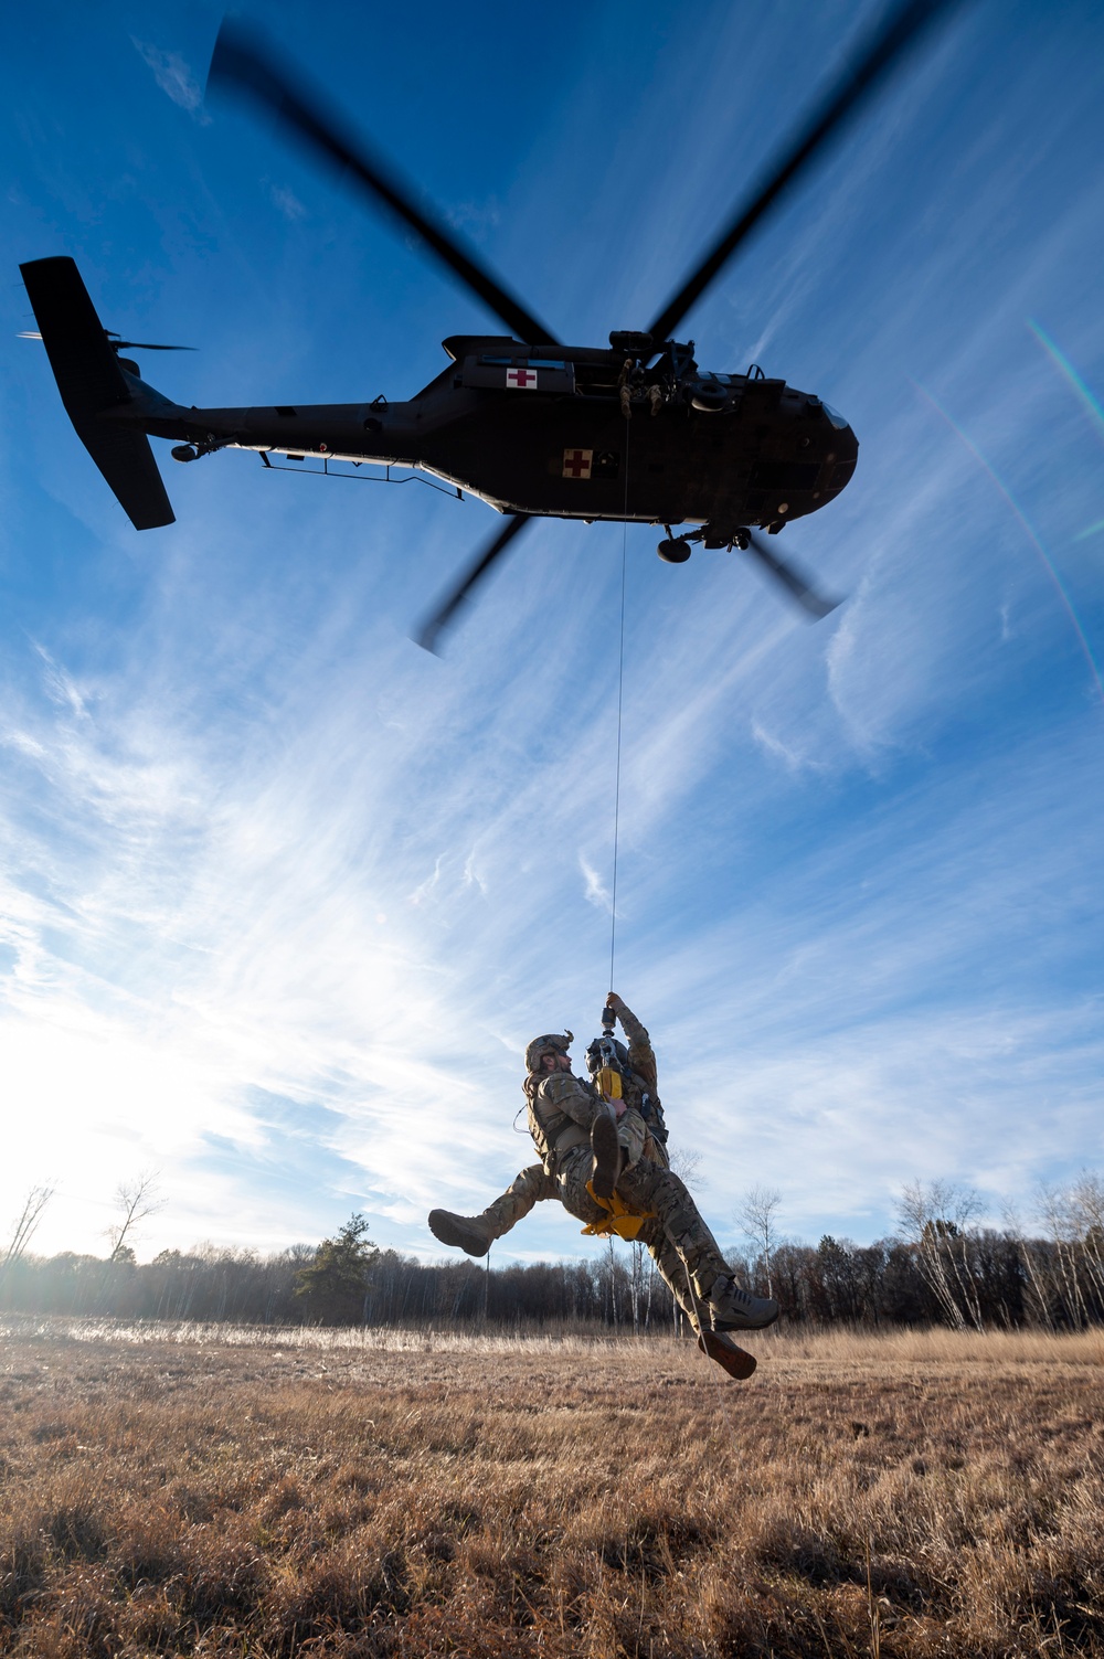
M 405 403 L 183 408 L 128 375 L 133 401 L 101 418 L 183 440 L 196 456 L 400 465 L 503 513 L 696 523 L 721 536 L 815 513 L 855 469 L 858 441 L 820 398 L 762 372 L 704 373 L 687 347 L 652 368 L 609 348 L 488 335 L 445 350 L 453 362 Z

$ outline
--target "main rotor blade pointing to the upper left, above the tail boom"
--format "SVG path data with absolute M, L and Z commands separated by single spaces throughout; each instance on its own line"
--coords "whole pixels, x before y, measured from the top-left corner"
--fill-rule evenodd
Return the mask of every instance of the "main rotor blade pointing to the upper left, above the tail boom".
M 274 56 L 257 46 L 234 23 L 224 22 L 214 43 L 208 86 L 221 85 L 247 93 L 269 109 L 299 139 L 349 173 L 374 199 L 410 226 L 437 257 L 488 305 L 506 327 L 530 345 L 558 345 L 556 335 L 480 264 L 455 231 L 438 216 L 413 206 L 412 187 L 390 163 L 375 154 L 365 139 L 342 128 L 340 118 L 322 108 L 317 96 L 297 83 Z

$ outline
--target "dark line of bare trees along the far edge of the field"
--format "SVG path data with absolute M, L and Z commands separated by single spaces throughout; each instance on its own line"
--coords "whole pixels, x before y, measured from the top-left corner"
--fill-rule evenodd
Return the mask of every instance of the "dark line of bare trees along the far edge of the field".
M 973 1329 L 1104 1324 L 1104 1183 L 1046 1194 L 1048 1236 L 981 1228 L 976 1198 L 935 1183 L 901 1199 L 901 1233 L 875 1244 L 825 1236 L 729 1258 L 740 1282 L 775 1296 L 794 1324 Z M 377 1249 L 354 1216 L 334 1239 L 277 1254 L 203 1248 L 138 1262 L 96 1256 L 0 1261 L 0 1309 L 113 1319 L 244 1324 L 596 1324 L 671 1331 L 679 1316 L 641 1246 L 594 1246 L 583 1261 L 486 1267 Z

